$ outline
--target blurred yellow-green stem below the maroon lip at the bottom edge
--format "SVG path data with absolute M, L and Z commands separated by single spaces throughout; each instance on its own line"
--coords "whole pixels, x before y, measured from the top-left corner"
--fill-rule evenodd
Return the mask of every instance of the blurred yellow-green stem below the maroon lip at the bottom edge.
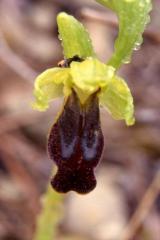
M 42 201 L 43 209 L 38 216 L 33 240 L 53 240 L 56 238 L 57 224 L 62 217 L 63 197 L 61 194 L 56 193 L 49 183 Z

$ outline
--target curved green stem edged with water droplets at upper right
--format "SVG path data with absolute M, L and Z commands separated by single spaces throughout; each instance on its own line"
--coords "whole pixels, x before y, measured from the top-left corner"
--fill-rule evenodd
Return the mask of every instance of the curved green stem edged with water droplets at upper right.
M 138 50 L 142 33 L 149 22 L 151 0 L 96 0 L 116 12 L 119 18 L 119 34 L 115 41 L 114 54 L 108 64 L 119 68 L 129 63 L 133 50 Z

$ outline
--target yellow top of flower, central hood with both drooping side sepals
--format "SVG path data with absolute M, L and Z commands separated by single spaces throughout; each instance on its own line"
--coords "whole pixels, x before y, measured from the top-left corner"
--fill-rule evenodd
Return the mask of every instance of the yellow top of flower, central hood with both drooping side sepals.
M 80 103 L 85 104 L 91 94 L 98 91 L 99 102 L 106 107 L 113 118 L 134 124 L 133 98 L 125 81 L 96 58 L 89 57 L 82 62 L 73 61 L 67 68 L 51 68 L 40 74 L 35 81 L 33 107 L 45 111 L 57 97 L 67 98 L 72 89 Z

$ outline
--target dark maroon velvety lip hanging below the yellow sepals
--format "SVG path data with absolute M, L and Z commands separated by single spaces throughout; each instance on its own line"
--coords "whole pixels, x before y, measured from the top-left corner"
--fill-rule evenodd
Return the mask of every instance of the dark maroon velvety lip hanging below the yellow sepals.
M 50 158 L 58 167 L 51 181 L 53 188 L 61 193 L 70 190 L 88 193 L 93 190 L 96 186 L 94 168 L 102 150 L 103 135 L 96 93 L 81 106 L 73 91 L 48 139 Z

